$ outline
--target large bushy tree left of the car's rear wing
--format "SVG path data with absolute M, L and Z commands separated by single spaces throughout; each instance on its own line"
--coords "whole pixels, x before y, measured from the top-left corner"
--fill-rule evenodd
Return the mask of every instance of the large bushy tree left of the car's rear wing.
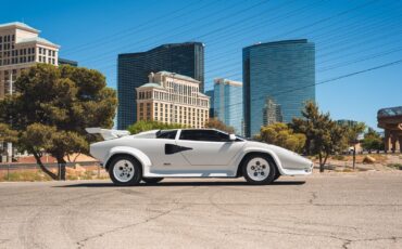
M 24 70 L 15 87 L 16 94 L 0 101 L 0 122 L 12 123 L 17 147 L 33 154 L 40 169 L 54 180 L 65 180 L 64 158 L 88 153 L 88 141 L 93 140 L 85 128 L 113 126 L 115 91 L 106 88 L 99 71 L 46 64 Z M 43 153 L 58 160 L 58 174 L 43 166 Z

